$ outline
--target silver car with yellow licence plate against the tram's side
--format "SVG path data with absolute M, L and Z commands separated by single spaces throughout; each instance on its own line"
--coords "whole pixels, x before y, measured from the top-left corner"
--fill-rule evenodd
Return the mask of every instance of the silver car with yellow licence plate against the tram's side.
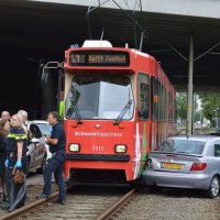
M 215 198 L 220 189 L 220 138 L 175 136 L 150 152 L 142 174 L 150 187 L 196 188 Z

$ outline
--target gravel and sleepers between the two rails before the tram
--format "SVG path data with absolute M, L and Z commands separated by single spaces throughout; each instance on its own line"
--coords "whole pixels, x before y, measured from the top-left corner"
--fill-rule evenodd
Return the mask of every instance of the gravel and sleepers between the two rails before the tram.
M 67 194 L 66 205 L 57 205 L 54 202 L 47 202 L 37 209 L 25 213 L 19 220 L 89 220 L 97 219 L 109 207 L 121 198 L 127 191 L 128 187 L 74 187 Z

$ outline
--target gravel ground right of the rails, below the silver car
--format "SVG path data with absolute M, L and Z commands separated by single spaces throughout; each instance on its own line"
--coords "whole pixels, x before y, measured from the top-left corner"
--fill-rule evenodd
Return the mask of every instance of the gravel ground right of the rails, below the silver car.
M 113 220 L 219 220 L 220 198 L 206 198 L 197 190 L 140 189 Z

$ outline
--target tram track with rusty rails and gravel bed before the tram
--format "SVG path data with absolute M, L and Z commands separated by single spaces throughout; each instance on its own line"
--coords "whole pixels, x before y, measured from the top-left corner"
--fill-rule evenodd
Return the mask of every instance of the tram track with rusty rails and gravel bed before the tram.
M 70 189 L 70 188 L 69 188 Z M 114 188 L 116 189 L 116 188 Z M 120 208 L 125 205 L 133 196 L 135 189 L 123 193 L 114 193 L 113 188 L 108 191 L 95 189 L 94 193 L 85 190 L 79 194 L 67 194 L 66 205 L 55 205 L 53 200 L 58 193 L 53 194 L 50 199 L 38 199 L 23 208 L 7 213 L 0 220 L 8 219 L 98 219 L 106 220 L 111 218 Z M 125 190 L 125 193 L 124 193 Z M 96 193 L 97 191 L 97 193 Z

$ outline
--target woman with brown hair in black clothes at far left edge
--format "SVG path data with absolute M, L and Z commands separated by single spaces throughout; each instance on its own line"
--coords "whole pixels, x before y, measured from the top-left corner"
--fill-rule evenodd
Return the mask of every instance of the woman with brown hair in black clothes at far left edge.
M 3 201 L 8 201 L 4 161 L 7 160 L 7 135 L 9 133 L 9 120 L 0 120 L 0 187 L 2 188 Z

